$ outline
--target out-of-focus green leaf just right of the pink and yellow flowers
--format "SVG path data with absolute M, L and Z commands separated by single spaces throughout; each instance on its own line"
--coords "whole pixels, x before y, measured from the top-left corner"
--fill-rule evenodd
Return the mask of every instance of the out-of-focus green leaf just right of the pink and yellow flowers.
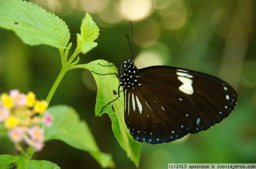
M 89 152 L 104 168 L 115 166 L 112 156 L 99 150 L 90 128 L 85 121 L 79 119 L 76 110 L 66 105 L 58 105 L 49 107 L 48 111 L 54 121 L 51 127 L 44 127 L 45 141 L 64 141 L 76 149 Z

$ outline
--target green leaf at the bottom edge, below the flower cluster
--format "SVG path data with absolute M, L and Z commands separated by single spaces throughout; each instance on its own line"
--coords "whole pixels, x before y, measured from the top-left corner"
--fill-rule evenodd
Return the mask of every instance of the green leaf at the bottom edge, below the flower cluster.
M 17 163 L 18 169 L 60 169 L 57 164 L 45 160 L 28 160 L 21 156 L 0 155 L 0 169 L 10 169 L 7 166 L 11 163 Z

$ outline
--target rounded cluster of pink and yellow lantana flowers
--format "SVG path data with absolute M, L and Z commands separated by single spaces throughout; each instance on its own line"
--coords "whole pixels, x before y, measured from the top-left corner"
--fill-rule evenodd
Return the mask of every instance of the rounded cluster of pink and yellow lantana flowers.
M 18 150 L 20 146 L 17 145 L 23 141 L 36 151 L 44 147 L 44 129 L 40 126 L 50 127 L 53 121 L 47 107 L 47 101 L 36 100 L 33 92 L 24 94 L 15 89 L 0 95 L 0 123 L 8 130 L 9 138 Z

